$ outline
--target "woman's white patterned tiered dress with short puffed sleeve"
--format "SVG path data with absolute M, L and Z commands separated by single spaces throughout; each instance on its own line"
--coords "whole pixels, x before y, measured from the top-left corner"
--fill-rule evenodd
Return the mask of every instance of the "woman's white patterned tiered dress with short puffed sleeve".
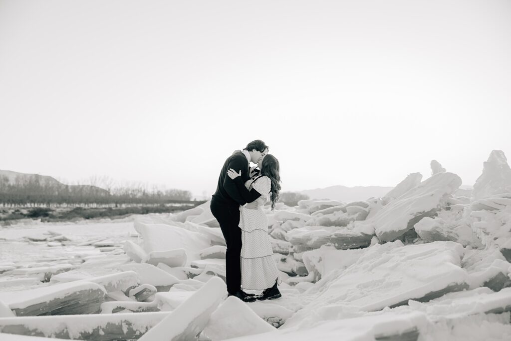
M 273 249 L 268 236 L 268 218 L 263 206 L 269 196 L 271 181 L 261 176 L 246 181 L 245 187 L 261 193 L 256 200 L 259 209 L 240 207 L 241 228 L 241 287 L 245 290 L 270 288 L 278 279 L 278 270 L 273 260 Z

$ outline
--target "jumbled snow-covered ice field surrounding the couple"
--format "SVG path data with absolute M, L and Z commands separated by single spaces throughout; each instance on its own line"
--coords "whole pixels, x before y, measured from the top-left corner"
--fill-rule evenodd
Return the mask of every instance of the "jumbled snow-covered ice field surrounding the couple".
M 225 299 L 209 202 L 2 228 L 0 339 L 510 339 L 505 155 L 490 154 L 472 195 L 435 161 L 431 173 L 381 198 L 265 207 L 283 296 L 248 304 Z

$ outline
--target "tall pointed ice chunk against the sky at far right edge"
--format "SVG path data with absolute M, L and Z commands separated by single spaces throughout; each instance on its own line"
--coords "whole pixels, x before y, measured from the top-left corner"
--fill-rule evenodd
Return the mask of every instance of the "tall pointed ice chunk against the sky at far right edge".
M 482 174 L 477 178 L 472 199 L 483 199 L 494 194 L 507 192 L 511 186 L 511 168 L 502 150 L 493 150 L 483 163 Z

